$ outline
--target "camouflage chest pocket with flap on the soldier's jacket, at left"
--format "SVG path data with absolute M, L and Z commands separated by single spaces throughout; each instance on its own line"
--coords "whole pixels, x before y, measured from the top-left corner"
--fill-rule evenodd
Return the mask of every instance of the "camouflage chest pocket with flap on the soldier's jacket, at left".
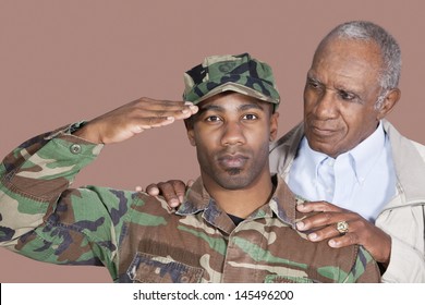
M 133 282 L 141 283 L 198 283 L 204 269 L 137 252 L 126 273 Z

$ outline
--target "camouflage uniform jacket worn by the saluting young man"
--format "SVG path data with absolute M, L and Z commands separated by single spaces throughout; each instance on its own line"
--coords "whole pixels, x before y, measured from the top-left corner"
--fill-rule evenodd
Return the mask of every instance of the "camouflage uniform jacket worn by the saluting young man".
M 330 248 L 294 228 L 296 199 L 278 180 L 270 202 L 235 225 L 197 180 L 169 210 L 144 193 L 69 188 L 101 145 L 70 131 L 35 137 L 1 167 L 0 245 L 37 260 L 104 265 L 116 282 L 378 282 L 361 246 Z

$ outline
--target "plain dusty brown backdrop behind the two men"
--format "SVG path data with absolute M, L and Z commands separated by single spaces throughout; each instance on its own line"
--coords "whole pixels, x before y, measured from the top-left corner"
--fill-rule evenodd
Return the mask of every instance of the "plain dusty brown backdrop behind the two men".
M 0 156 L 32 135 L 92 119 L 142 96 L 180 99 L 204 57 L 251 52 L 274 68 L 280 135 L 302 119 L 314 49 L 335 25 L 369 20 L 403 53 L 401 102 L 389 119 L 425 143 L 425 4 L 411 1 L 0 0 Z M 111 145 L 75 181 L 119 188 L 198 173 L 183 124 Z M 0 282 L 110 282 L 105 268 L 51 266 L 0 249 Z

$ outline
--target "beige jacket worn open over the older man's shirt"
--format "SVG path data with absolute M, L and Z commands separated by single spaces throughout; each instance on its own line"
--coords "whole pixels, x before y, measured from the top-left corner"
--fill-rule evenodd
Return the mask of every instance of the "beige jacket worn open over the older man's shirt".
M 384 282 L 425 282 L 425 146 L 402 136 L 384 120 L 392 148 L 398 194 L 379 213 L 376 225 L 391 235 L 390 264 Z M 287 180 L 303 124 L 270 146 L 270 169 Z

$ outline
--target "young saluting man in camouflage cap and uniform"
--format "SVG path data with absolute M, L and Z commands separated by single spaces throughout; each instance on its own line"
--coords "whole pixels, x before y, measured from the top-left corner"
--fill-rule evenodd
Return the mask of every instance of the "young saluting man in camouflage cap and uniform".
M 0 245 L 48 263 L 104 265 L 116 282 L 378 282 L 363 247 L 331 248 L 296 230 L 301 199 L 268 164 L 280 99 L 271 69 L 248 54 L 210 57 L 185 85 L 190 105 L 143 98 L 7 156 Z M 177 210 L 145 193 L 69 188 L 105 144 L 181 119 L 201 178 Z

